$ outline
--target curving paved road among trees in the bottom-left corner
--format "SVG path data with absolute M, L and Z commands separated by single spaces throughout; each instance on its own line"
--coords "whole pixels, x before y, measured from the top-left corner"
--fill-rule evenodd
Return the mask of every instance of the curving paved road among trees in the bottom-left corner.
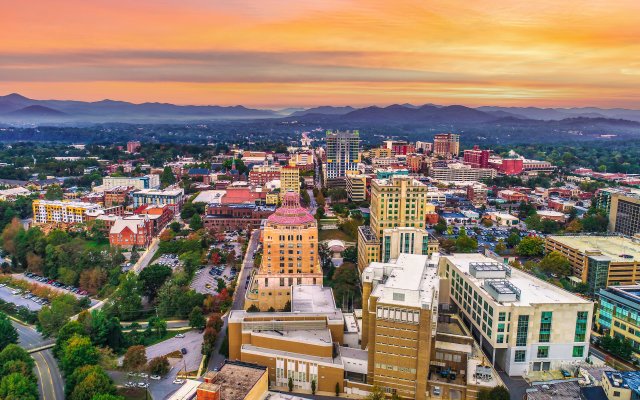
M 18 331 L 18 341 L 24 348 L 34 348 L 48 343 L 40 333 L 34 329 L 11 322 Z M 51 350 L 43 350 L 31 355 L 36 363 L 36 377 L 38 378 L 38 390 L 42 400 L 64 400 L 64 381 L 58 363 Z

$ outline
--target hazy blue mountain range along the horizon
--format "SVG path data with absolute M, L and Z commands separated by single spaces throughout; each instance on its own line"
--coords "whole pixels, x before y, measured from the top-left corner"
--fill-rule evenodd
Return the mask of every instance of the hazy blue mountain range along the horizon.
M 238 106 L 193 106 L 169 103 L 134 104 L 101 100 L 35 100 L 17 93 L 0 96 L 0 123 L 6 125 L 75 123 L 168 123 L 208 120 L 255 120 L 282 118 L 286 121 L 380 123 L 380 124 L 523 124 L 533 121 L 559 121 L 567 124 L 608 122 L 640 127 L 640 110 L 623 108 L 471 108 L 461 105 L 394 104 L 387 107 L 320 106 L 307 109 L 253 109 Z M 627 123 L 626 120 L 632 123 Z

